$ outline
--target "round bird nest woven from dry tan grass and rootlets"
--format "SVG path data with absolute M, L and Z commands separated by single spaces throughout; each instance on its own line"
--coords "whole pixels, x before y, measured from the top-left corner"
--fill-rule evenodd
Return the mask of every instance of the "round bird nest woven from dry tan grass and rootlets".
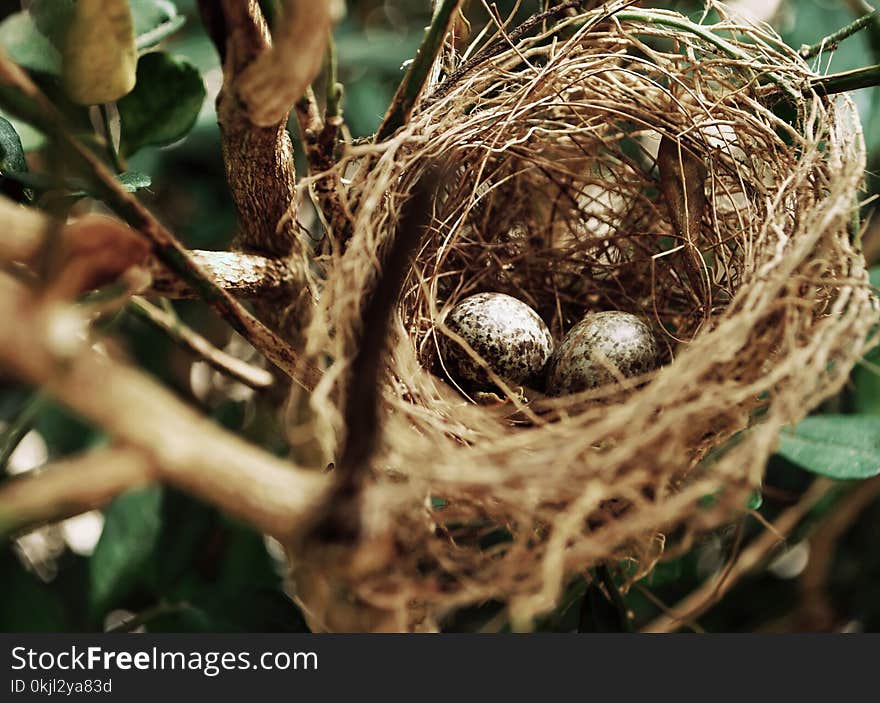
M 769 27 L 627 5 L 447 56 L 406 127 L 340 166 L 355 172 L 353 236 L 325 262 L 308 334 L 328 366 L 312 436 L 330 456 L 383 251 L 446 164 L 379 390 L 363 544 L 388 556 L 300 566 L 316 627 L 433 629 L 490 600 L 527 626 L 598 564 L 640 578 L 664 547 L 747 510 L 781 428 L 864 352 L 878 312 L 854 243 L 865 161 L 850 101 L 814 90 Z M 528 303 L 557 341 L 588 312 L 634 313 L 662 364 L 561 397 L 458 389 L 436 351 L 443 316 L 485 291 Z

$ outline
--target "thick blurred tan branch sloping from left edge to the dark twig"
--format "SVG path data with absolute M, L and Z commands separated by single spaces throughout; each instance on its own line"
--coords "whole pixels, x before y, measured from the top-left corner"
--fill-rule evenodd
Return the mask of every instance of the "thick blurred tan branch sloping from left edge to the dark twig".
M 62 335 L 71 315 L 70 306 L 38 306 L 0 275 L 0 363 L 142 453 L 160 479 L 282 541 L 299 534 L 323 503 L 326 477 L 248 444 L 140 371 Z

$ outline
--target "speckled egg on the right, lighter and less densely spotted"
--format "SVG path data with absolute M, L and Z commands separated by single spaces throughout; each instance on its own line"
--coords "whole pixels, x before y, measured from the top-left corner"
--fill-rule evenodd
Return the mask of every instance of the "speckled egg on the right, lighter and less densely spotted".
M 659 360 L 660 348 L 644 320 L 627 312 L 590 313 L 556 350 L 547 375 L 547 393 L 564 395 L 614 383 L 608 364 L 632 377 L 657 368 Z

